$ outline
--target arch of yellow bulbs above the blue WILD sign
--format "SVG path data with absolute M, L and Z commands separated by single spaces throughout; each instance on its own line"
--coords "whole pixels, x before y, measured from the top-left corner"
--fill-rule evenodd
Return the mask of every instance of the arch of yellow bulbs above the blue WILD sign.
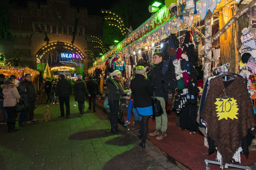
M 44 45 L 35 54 L 35 57 L 38 58 L 38 59 L 42 59 L 42 57 L 44 57 L 44 55 L 48 51 L 59 48 L 59 46 L 61 46 L 62 48 L 66 48 L 66 49 L 69 49 L 71 51 L 74 51 L 75 54 L 80 55 L 82 57 L 81 59 L 85 59 L 85 56 L 82 54 L 82 51 L 80 51 L 75 45 L 72 45 L 68 42 L 52 42 L 50 44 Z

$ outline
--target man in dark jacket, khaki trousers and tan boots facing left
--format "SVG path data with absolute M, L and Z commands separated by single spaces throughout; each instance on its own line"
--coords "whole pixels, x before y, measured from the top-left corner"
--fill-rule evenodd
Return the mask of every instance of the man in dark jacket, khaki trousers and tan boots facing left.
M 154 90 L 154 93 L 156 94 L 156 98 L 160 101 L 162 109 L 164 113 L 162 116 L 156 117 L 156 128 L 153 132 L 149 133 L 150 136 L 156 136 L 156 139 L 164 139 L 165 136 L 167 136 L 166 130 L 167 130 L 167 114 L 165 111 L 165 98 L 168 97 L 168 87 L 164 86 L 164 83 L 162 82 L 162 68 L 164 65 L 164 62 L 162 61 L 163 54 L 162 52 L 155 52 L 153 54 L 153 62 L 154 62 L 154 68 L 148 75 L 148 78 L 150 79 L 150 82 L 152 85 L 154 85 L 156 88 Z M 162 125 L 161 125 L 162 123 Z

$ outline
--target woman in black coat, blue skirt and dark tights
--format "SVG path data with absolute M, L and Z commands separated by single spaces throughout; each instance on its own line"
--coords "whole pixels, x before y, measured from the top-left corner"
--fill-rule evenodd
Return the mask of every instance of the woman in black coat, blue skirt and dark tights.
M 136 69 L 135 78 L 131 80 L 131 90 L 134 102 L 134 107 L 137 108 L 138 114 L 142 116 L 139 139 L 142 138 L 139 145 L 145 148 L 145 142 L 148 132 L 148 119 L 153 114 L 152 99 L 153 87 L 150 80 L 147 79 L 146 69 L 143 66 L 138 66 Z

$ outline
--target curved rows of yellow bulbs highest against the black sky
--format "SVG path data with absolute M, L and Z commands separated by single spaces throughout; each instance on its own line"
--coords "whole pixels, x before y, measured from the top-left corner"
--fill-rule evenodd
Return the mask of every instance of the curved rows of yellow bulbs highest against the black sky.
M 109 10 L 101 10 L 101 12 L 104 14 L 108 14 L 104 17 L 105 20 L 109 21 L 109 26 L 115 26 L 120 29 L 123 35 L 126 34 L 126 27 L 124 26 L 124 21 L 121 18 L 120 15 L 118 15 L 116 12 L 109 11 Z

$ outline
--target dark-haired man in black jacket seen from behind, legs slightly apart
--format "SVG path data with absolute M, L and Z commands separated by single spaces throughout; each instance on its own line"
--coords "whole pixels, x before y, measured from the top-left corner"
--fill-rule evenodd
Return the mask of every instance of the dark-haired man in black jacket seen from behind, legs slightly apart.
M 60 108 L 60 116 L 65 116 L 64 113 L 64 102 L 66 106 L 66 118 L 69 118 L 70 115 L 70 107 L 69 107 L 69 96 L 72 93 L 72 85 L 71 82 L 65 79 L 65 75 L 60 76 L 60 81 L 56 85 L 55 96 L 59 96 L 59 108 Z

